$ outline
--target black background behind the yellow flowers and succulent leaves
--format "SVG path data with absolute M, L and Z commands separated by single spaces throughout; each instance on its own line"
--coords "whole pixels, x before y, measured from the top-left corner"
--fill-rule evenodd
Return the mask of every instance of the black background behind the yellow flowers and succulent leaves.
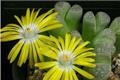
M 98 11 L 104 11 L 111 17 L 113 20 L 115 17 L 120 16 L 120 2 L 108 2 L 108 1 L 68 1 L 71 5 L 79 4 L 83 8 L 83 12 L 93 11 L 94 14 Z M 25 15 L 26 8 L 43 8 L 42 13 L 54 7 L 56 1 L 2 1 L 2 14 L 1 14 L 1 27 L 4 27 L 8 23 L 17 23 L 14 15 Z M 1 80 L 13 80 L 12 78 L 12 64 L 9 64 L 7 60 L 7 55 L 16 44 L 17 41 L 2 42 L 1 44 L 1 60 L 2 60 L 2 72 Z M 20 70 L 26 68 L 23 65 Z M 26 74 L 26 70 L 24 73 Z

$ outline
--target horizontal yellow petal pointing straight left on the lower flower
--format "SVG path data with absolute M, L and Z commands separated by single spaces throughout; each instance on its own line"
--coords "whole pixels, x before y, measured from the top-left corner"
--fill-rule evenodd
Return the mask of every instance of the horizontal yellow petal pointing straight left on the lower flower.
M 36 63 L 35 66 L 39 67 L 39 69 L 46 69 L 46 68 L 51 68 L 57 64 L 56 61 L 51 61 L 51 62 L 40 62 Z

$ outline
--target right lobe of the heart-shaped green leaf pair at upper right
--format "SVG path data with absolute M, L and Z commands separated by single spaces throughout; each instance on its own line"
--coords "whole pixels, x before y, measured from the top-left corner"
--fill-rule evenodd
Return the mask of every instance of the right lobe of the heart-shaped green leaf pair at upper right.
M 96 33 L 103 30 L 110 22 L 110 17 L 105 12 L 98 12 L 96 14 Z

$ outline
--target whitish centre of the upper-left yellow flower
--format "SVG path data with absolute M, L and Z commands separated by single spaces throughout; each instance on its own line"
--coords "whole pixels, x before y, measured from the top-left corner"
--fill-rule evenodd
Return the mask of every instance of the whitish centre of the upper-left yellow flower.
M 20 33 L 20 37 L 30 40 L 37 38 L 39 31 L 36 29 L 36 25 L 29 24 L 29 25 L 25 25 L 24 28 L 21 28 L 19 30 L 19 33 Z

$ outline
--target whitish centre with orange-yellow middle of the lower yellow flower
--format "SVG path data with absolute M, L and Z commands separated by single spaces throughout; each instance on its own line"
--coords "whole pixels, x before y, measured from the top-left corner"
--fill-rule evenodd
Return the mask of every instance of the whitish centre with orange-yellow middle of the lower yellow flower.
M 58 55 L 58 64 L 62 69 L 71 69 L 74 55 L 70 51 L 61 51 Z

